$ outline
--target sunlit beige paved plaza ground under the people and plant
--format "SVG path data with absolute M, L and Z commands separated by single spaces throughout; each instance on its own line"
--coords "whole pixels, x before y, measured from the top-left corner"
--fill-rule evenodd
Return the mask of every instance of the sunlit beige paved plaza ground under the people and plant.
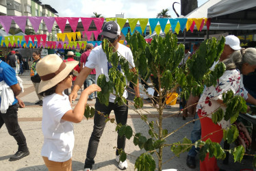
M 23 79 L 25 92 L 23 92 L 20 97 L 24 101 L 26 107 L 18 110 L 18 118 L 21 129 L 27 138 L 27 145 L 29 147 L 30 155 L 18 161 L 8 161 L 10 156 L 16 153 L 18 146 L 14 138 L 8 134 L 6 127 L 3 126 L 0 130 L 0 171 L 47 170 L 40 155 L 40 150 L 43 144 L 43 135 L 41 130 L 42 107 L 39 105 L 34 105 L 34 103 L 38 101 L 38 97 L 36 96 L 27 70 L 25 75 L 21 76 L 21 79 Z M 95 99 L 89 102 L 89 105 L 94 105 L 94 103 Z M 146 111 L 151 113 L 148 116 L 149 120 L 153 120 L 155 117 L 154 114 L 157 114 L 157 111 L 153 109 L 151 105 L 151 103 L 147 103 L 143 107 Z M 164 116 L 166 117 L 164 119 L 164 129 L 167 129 L 168 132 L 177 129 L 181 125 L 185 124 L 185 122 L 192 120 L 192 117 L 182 120 L 181 115 L 177 115 L 178 113 L 178 105 L 172 106 L 171 109 L 164 109 Z M 111 117 L 114 117 L 114 114 L 112 114 Z M 132 109 L 129 109 L 129 118 L 127 124 L 129 124 L 136 133 L 140 132 L 143 133 L 144 136 L 149 137 L 149 134 L 147 133 L 147 125 Z M 75 148 L 73 150 L 73 170 L 84 169 L 84 160 L 86 159 L 86 150 L 88 147 L 90 134 L 92 133 L 92 127 L 93 119 L 84 119 L 79 124 L 74 124 Z M 170 144 L 172 142 L 177 142 L 185 136 L 190 137 L 192 127 L 192 123 L 186 125 L 183 127 L 183 129 L 168 137 L 167 143 Z M 115 128 L 115 124 L 107 122 L 103 136 L 101 137 L 101 141 L 99 143 L 99 149 L 95 158 L 96 163 L 93 166 L 93 170 L 119 170 L 115 161 L 115 149 L 113 148 L 116 146 L 117 138 Z M 133 137 L 131 137 L 131 140 L 127 140 L 125 151 L 130 154 L 127 157 L 129 165 L 127 170 L 134 170 L 136 157 L 138 157 L 143 151 L 140 150 L 138 146 L 134 146 Z M 164 164 L 163 169 L 175 168 L 178 170 L 192 170 L 185 164 L 187 153 L 183 153 L 179 158 L 175 157 L 175 159 L 168 161 L 168 159 L 171 157 L 173 157 L 173 153 L 170 152 L 170 148 L 165 148 L 163 159 L 166 164 Z M 199 170 L 198 158 L 196 158 L 196 162 L 197 167 L 194 170 Z M 242 170 L 248 168 L 252 170 L 252 162 L 252 159 L 247 157 L 242 161 L 242 163 L 233 163 L 231 155 L 229 156 L 229 165 L 223 165 L 222 161 L 218 161 L 220 168 L 225 170 Z

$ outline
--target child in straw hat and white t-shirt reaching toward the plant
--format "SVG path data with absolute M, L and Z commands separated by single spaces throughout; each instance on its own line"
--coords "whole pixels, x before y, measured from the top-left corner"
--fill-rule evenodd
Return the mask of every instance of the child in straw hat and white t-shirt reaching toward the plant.
M 38 92 L 44 96 L 42 105 L 42 133 L 44 144 L 41 155 L 49 170 L 72 170 L 72 150 L 75 137 L 73 123 L 81 122 L 88 95 L 101 91 L 93 84 L 81 93 L 77 105 L 71 108 L 66 88 L 71 88 L 73 68 L 77 61 L 64 63 L 58 55 L 47 55 L 36 65 L 41 82 Z

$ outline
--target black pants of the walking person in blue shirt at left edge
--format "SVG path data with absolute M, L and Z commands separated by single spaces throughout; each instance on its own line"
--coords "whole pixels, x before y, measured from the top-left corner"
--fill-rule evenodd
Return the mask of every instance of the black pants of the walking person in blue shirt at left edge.
M 0 129 L 5 124 L 8 133 L 14 137 L 18 150 L 27 151 L 26 138 L 18 125 L 18 104 L 9 106 L 6 114 L 0 112 Z

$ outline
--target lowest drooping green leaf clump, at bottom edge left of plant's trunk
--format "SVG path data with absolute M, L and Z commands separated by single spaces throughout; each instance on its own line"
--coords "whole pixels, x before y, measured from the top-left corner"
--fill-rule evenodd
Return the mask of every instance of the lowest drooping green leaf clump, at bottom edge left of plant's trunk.
M 135 169 L 138 171 L 153 171 L 155 170 L 155 160 L 152 155 L 142 153 L 140 157 L 136 159 Z

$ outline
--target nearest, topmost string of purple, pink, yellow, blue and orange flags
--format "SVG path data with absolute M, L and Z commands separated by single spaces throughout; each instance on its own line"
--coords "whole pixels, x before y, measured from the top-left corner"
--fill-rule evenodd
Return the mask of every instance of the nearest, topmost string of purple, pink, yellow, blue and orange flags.
M 25 27 L 27 20 L 30 21 L 31 26 L 34 28 L 34 31 L 37 32 L 42 21 L 47 27 L 49 33 L 51 33 L 53 29 L 54 22 L 57 23 L 57 26 L 60 28 L 60 31 L 64 33 L 64 29 L 66 27 L 66 23 L 68 22 L 71 26 L 73 32 L 77 30 L 77 24 L 81 21 L 84 27 L 84 34 L 86 36 L 90 36 L 90 34 L 94 34 L 94 37 L 97 37 L 97 34 L 101 32 L 101 28 L 104 23 L 104 18 L 84 18 L 84 17 L 51 17 L 51 16 L 0 16 L 0 23 L 5 29 L 5 32 L 8 34 L 10 30 L 10 26 L 12 21 L 14 21 L 18 27 L 25 32 Z M 164 32 L 166 27 L 169 26 L 172 28 L 172 32 L 176 32 L 179 34 L 179 31 L 186 29 L 186 31 L 190 30 L 193 32 L 194 27 L 199 31 L 203 29 L 203 26 L 206 24 L 207 29 L 211 24 L 210 20 L 207 18 L 105 18 L 106 21 L 116 21 L 120 28 L 122 29 L 123 34 L 126 33 L 125 23 L 129 23 L 129 29 L 131 33 L 133 33 L 134 29 L 136 29 L 137 24 L 140 23 L 140 28 L 142 31 L 146 29 L 146 26 L 149 23 L 151 28 L 151 32 L 157 31 L 158 27 Z M 94 21 L 96 31 L 89 31 L 89 27 Z M 159 23 L 159 25 L 157 25 Z M 157 30 L 155 30 L 157 29 Z M 170 29 L 170 28 L 169 28 Z

